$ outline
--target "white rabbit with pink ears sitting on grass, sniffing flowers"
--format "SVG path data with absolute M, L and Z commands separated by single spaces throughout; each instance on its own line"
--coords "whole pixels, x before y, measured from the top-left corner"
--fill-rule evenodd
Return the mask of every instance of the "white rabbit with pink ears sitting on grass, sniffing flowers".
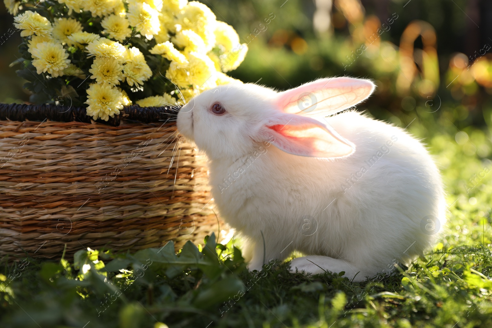
M 181 109 L 178 130 L 207 154 L 215 204 L 246 238 L 250 270 L 298 250 L 307 256 L 292 271 L 365 280 L 432 245 L 446 205 L 428 151 L 399 127 L 337 114 L 373 90 L 347 77 L 283 92 L 231 83 Z

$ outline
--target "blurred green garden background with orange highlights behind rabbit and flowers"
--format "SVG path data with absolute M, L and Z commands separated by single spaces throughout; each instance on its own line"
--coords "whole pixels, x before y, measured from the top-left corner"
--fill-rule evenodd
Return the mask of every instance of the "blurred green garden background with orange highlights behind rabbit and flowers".
M 490 0 L 202 2 L 248 44 L 246 60 L 230 72 L 244 82 L 288 89 L 320 77 L 365 77 L 378 88 L 362 107 L 377 118 L 405 126 L 446 112 L 458 127 L 491 123 Z M 20 35 L 9 30 L 4 6 L 0 14 L 0 101 L 24 102 L 28 91 L 9 67 Z

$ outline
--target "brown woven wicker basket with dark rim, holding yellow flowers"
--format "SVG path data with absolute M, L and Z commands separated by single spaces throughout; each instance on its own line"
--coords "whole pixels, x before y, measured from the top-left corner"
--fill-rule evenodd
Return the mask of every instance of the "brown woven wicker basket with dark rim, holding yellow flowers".
M 206 159 L 175 118 L 130 106 L 109 126 L 80 108 L 0 104 L 0 257 L 180 248 L 217 234 Z

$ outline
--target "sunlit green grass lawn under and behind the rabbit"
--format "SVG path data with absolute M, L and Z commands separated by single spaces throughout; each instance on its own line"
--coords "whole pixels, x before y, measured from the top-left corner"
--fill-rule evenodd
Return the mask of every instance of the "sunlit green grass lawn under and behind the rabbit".
M 490 131 L 468 126 L 459 108 L 406 115 L 387 119 L 416 118 L 408 129 L 435 155 L 450 205 L 440 242 L 411 267 L 366 282 L 282 263 L 255 275 L 232 242 L 213 237 L 178 256 L 168 244 L 3 262 L 0 327 L 492 327 Z

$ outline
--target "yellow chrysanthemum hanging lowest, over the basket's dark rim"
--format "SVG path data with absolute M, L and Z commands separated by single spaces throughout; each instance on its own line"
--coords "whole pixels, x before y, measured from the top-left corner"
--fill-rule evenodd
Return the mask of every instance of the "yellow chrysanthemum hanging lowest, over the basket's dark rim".
M 107 121 L 109 117 L 120 114 L 120 109 L 123 108 L 122 101 L 123 94 L 118 89 L 108 84 L 91 84 L 85 102 L 89 105 L 87 115 L 92 116 L 92 119 L 101 118 Z

